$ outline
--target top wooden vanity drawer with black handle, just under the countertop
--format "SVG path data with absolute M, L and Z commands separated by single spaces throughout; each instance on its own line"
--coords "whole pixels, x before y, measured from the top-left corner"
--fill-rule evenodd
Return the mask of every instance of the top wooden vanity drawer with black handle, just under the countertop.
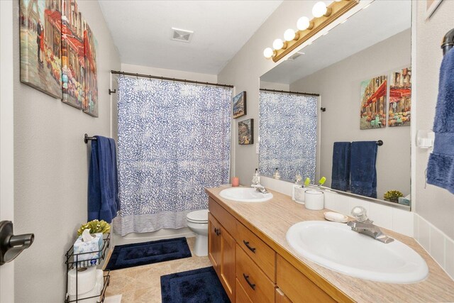
M 276 282 L 276 253 L 270 246 L 240 222 L 236 226 L 236 243 L 265 272 L 272 282 Z

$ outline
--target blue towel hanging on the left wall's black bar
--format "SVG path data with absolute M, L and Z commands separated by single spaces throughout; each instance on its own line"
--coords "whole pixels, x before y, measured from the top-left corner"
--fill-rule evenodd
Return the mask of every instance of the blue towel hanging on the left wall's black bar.
M 88 178 L 88 221 L 111 223 L 120 209 L 115 141 L 95 137 Z

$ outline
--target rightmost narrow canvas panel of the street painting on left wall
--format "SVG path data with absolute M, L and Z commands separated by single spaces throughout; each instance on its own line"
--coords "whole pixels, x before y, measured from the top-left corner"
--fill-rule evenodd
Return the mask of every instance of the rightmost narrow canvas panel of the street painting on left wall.
M 82 105 L 84 113 L 98 116 L 98 76 L 96 69 L 97 42 L 88 23 L 84 23 L 85 44 L 85 99 Z

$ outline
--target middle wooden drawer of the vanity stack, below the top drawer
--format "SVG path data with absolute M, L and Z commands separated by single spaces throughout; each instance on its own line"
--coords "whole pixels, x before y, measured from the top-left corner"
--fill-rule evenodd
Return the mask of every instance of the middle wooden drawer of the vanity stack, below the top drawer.
M 275 302 L 275 285 L 258 265 L 236 246 L 236 278 L 252 302 Z

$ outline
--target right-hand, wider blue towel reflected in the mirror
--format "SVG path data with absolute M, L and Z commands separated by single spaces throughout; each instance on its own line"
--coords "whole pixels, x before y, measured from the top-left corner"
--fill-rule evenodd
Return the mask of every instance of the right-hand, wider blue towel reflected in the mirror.
M 377 198 L 377 142 L 353 142 L 350 160 L 350 192 Z

